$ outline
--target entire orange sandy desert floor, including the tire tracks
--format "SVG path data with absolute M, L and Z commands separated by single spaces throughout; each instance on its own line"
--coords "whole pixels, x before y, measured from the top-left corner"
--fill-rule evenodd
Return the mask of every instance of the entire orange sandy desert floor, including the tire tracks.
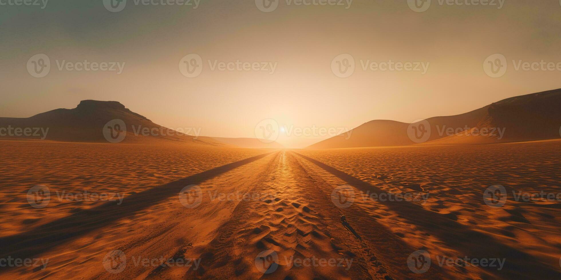
M 0 277 L 555 279 L 559 201 L 516 201 L 510 191 L 560 193 L 560 148 L 2 142 L 10 160 L 2 162 L 0 255 L 48 264 L 1 268 Z M 34 208 L 26 192 L 36 184 L 52 197 L 86 188 L 126 196 Z M 502 207 L 485 203 L 495 184 L 508 191 Z M 412 196 L 386 199 L 396 193 Z M 421 274 L 408 267 L 417 250 L 432 260 Z M 505 262 L 441 267 L 443 256 Z

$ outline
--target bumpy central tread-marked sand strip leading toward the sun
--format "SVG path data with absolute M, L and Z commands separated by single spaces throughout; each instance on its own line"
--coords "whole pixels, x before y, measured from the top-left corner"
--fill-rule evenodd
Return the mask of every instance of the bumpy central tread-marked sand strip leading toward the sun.
M 201 258 L 186 277 L 391 279 L 292 152 L 279 152 L 251 185 L 257 195 L 237 204 L 216 237 L 185 252 Z

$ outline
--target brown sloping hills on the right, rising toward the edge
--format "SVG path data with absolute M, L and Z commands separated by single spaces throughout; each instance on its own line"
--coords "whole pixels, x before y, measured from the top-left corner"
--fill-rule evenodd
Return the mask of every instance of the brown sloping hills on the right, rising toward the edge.
M 307 148 L 454 145 L 522 142 L 560 138 L 561 89 L 511 97 L 468 113 L 436 116 L 409 124 L 373 120 Z M 430 129 L 428 129 L 430 127 Z M 417 130 L 415 130 L 417 129 Z M 419 141 L 415 133 L 428 131 Z M 415 140 L 415 141 L 413 141 Z

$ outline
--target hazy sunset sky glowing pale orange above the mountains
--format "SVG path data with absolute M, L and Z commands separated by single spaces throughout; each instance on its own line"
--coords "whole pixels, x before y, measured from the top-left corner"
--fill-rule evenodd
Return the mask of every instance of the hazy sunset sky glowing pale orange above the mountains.
M 111 100 L 201 136 L 254 138 L 271 119 L 277 142 L 299 148 L 333 136 L 313 128 L 411 123 L 561 87 L 558 0 L 14 1 L 0 0 L 4 117 Z M 30 71 L 46 65 L 37 54 L 44 77 Z M 553 68 L 523 67 L 542 60 Z

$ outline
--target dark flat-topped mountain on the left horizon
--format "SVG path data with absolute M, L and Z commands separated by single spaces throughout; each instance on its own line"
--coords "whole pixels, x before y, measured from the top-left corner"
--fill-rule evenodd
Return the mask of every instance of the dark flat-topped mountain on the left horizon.
M 210 137 L 194 137 L 187 135 L 188 131 L 183 134 L 162 127 L 117 101 L 84 100 L 74 109 L 56 109 L 30 118 L 0 118 L 0 128 L 9 127 L 31 128 L 31 133 L 20 131 L 8 138 L 100 143 L 175 141 L 225 146 Z M 42 129 L 39 130 L 40 136 L 35 135 L 35 128 Z

